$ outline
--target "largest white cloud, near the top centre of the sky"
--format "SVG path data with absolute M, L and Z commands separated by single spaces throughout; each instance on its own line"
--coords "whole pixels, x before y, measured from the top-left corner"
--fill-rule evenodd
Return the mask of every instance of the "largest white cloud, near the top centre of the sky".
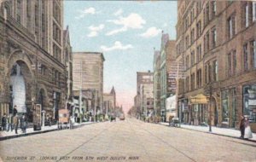
M 126 32 L 128 29 L 141 29 L 143 28 L 143 24 L 146 24 L 146 20 L 143 20 L 141 15 L 135 13 L 131 13 L 127 17 L 119 16 L 118 20 L 108 20 L 108 22 L 113 22 L 113 24 L 122 27 L 107 32 L 107 36 L 111 36 L 119 32 Z

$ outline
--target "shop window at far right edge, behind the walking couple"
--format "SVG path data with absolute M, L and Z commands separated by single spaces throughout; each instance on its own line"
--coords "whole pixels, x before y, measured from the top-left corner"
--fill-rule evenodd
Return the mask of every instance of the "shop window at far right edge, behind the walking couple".
M 243 87 L 243 114 L 250 123 L 256 123 L 256 84 Z

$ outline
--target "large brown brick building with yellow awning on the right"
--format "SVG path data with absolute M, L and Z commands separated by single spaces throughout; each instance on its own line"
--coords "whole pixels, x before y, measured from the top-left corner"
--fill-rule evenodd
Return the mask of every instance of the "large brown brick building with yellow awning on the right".
M 177 12 L 183 122 L 239 128 L 243 114 L 256 131 L 256 2 L 178 1 Z

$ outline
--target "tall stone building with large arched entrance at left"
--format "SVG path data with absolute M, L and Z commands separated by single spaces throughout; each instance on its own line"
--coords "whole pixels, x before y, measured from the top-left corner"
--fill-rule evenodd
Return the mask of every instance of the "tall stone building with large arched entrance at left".
M 1 114 L 26 113 L 41 104 L 58 119 L 66 103 L 63 1 L 9 0 L 0 3 Z

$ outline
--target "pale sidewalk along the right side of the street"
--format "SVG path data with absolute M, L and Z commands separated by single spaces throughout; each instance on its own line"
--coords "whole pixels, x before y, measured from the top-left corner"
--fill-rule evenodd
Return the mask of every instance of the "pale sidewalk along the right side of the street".
M 160 123 L 160 124 L 169 126 L 169 123 Z M 181 124 L 181 128 L 187 129 L 187 130 L 195 130 L 195 131 L 201 131 L 205 133 L 211 133 L 218 136 L 230 136 L 233 138 L 239 138 L 239 136 L 241 136 L 240 130 L 218 128 L 216 126 L 212 126 L 212 132 L 209 132 L 208 126 L 195 126 L 195 125 Z M 253 138 L 249 139 L 248 141 L 256 142 L 256 133 L 253 133 Z

